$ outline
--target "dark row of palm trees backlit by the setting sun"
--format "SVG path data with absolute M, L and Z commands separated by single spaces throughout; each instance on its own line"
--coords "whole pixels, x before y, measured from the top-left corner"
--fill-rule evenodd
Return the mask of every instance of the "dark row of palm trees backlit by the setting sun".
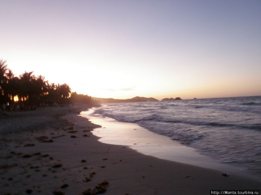
M 91 96 L 71 92 L 68 84 L 45 81 L 42 75 L 24 72 L 15 77 L 7 68 L 6 61 L 0 60 L 0 107 L 6 110 L 28 110 L 37 107 L 60 106 L 74 103 L 92 103 Z

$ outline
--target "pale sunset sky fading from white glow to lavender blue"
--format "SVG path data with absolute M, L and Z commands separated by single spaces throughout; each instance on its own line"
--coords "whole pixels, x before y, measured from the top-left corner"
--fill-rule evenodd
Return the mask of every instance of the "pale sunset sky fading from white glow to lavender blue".
M 261 95 L 260 0 L 0 0 L 19 76 L 128 99 Z

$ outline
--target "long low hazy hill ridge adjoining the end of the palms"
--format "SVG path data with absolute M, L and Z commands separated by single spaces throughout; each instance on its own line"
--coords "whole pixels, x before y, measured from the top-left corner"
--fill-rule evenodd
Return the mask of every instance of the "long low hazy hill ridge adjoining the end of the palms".
M 126 102 L 146 102 L 146 101 L 159 101 L 155 98 L 146 98 L 136 96 L 131 99 L 113 99 L 113 98 L 96 98 L 92 97 L 93 100 L 98 101 L 100 103 L 126 103 Z

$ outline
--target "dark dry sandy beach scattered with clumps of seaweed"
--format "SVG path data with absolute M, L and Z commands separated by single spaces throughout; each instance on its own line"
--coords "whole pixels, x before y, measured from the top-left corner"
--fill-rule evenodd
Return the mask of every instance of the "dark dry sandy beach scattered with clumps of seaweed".
M 104 144 L 82 107 L 0 116 L 0 194 L 209 194 L 261 182 Z

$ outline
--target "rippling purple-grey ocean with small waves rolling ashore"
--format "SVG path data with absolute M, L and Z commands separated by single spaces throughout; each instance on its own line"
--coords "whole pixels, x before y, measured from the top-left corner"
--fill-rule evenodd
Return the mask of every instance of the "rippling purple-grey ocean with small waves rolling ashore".
M 114 103 L 90 115 L 135 123 L 261 176 L 261 96 Z

